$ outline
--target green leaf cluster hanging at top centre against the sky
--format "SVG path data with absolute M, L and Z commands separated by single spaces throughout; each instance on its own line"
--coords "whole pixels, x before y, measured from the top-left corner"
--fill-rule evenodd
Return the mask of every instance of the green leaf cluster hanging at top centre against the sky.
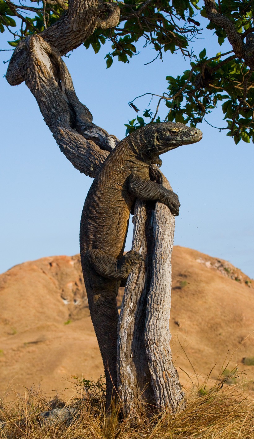
M 84 45 L 93 47 L 95 53 L 101 44 L 110 40 L 112 51 L 106 55 L 107 68 L 114 57 L 128 63 L 137 54 L 136 43 L 143 38 L 144 47 L 150 45 L 155 50 L 155 58 L 162 59 L 163 52 L 173 54 L 186 50 L 190 41 L 200 32 L 200 24 L 192 17 L 198 0 L 124 0 L 119 2 L 121 15 L 119 25 L 114 29 L 97 29 Z

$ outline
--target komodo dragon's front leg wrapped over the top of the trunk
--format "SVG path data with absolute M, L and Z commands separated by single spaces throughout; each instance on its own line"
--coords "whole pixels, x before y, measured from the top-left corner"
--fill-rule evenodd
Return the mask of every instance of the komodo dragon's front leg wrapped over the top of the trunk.
M 179 198 L 161 184 L 149 179 L 147 172 L 132 172 L 129 176 L 129 191 L 140 200 L 158 200 L 168 206 L 174 216 L 179 215 Z

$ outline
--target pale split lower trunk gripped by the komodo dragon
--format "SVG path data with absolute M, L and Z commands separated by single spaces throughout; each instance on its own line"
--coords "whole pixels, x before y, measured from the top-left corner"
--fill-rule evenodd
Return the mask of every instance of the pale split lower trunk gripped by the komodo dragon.
M 154 171 L 157 174 L 157 169 Z M 172 190 L 165 176 L 161 183 Z M 169 316 L 175 218 L 166 205 L 138 200 L 132 248 L 146 257 L 129 275 L 118 325 L 118 391 L 125 415 L 186 407 L 172 362 Z

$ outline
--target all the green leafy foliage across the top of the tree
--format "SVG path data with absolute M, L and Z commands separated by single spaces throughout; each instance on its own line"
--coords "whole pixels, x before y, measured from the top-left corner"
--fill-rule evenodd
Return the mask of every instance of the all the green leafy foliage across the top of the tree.
M 167 90 L 158 96 L 157 109 L 143 109 L 143 117 L 138 115 L 126 124 L 126 133 L 131 133 L 147 123 L 159 122 L 161 103 L 165 104 L 167 115 L 164 120 L 197 123 L 209 115 L 219 105 L 225 119 L 227 131 L 237 144 L 240 140 L 254 142 L 254 74 L 242 59 L 232 52 L 214 54 L 207 57 L 206 48 L 200 54 L 190 50 L 190 43 L 200 34 L 197 14 L 206 18 L 204 6 L 199 0 L 124 0 L 119 2 L 120 22 L 111 29 L 96 29 L 84 46 L 90 46 L 95 53 L 101 45 L 111 42 L 111 51 L 106 55 L 106 66 L 110 68 L 114 59 L 129 63 L 137 55 L 137 43 L 142 38 L 144 47 L 154 49 L 154 61 L 163 58 L 170 51 L 180 51 L 190 59 L 190 68 L 177 77 L 167 76 Z M 36 5 L 36 7 L 34 7 Z M 0 32 L 8 30 L 14 37 L 8 41 L 16 47 L 19 40 L 34 32 L 42 32 L 61 17 L 67 3 L 64 0 L 24 0 L 16 5 L 10 0 L 0 0 Z M 244 39 L 253 32 L 254 4 L 250 0 L 220 0 L 218 12 L 233 22 L 236 31 Z M 227 36 L 222 27 L 208 22 L 209 29 L 223 46 Z M 156 93 L 156 90 L 155 90 Z M 152 94 L 154 97 L 155 94 Z M 136 98 L 135 98 L 136 99 Z M 135 101 L 134 99 L 134 101 Z M 138 112 L 133 102 L 129 104 Z M 205 119 L 206 120 L 206 119 Z

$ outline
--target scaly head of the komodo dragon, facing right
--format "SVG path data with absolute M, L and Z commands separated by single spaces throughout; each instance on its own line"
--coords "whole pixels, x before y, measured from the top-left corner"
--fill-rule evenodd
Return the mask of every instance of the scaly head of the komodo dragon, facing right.
M 151 158 L 153 163 L 157 163 L 156 158 L 164 152 L 202 139 L 202 131 L 198 128 L 174 122 L 146 125 L 133 134 L 137 136 L 136 140 L 140 145 L 139 152 L 141 155 Z

